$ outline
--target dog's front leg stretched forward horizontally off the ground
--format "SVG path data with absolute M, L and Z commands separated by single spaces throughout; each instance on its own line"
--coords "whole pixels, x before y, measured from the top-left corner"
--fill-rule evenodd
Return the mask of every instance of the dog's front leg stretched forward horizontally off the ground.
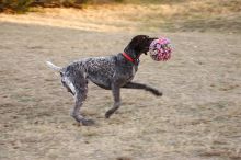
M 123 88 L 126 89 L 140 89 L 140 90 L 146 90 L 151 92 L 152 94 L 157 95 L 157 96 L 161 96 L 162 92 L 160 92 L 159 90 L 149 87 L 147 84 L 142 84 L 142 83 L 136 83 L 136 82 L 128 82 L 127 84 L 125 84 Z

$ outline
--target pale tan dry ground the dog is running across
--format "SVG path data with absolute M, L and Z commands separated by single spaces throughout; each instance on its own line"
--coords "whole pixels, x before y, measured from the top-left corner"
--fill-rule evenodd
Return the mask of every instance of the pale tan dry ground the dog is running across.
M 0 18 L 1 160 L 241 159 L 240 34 L 84 30 L 31 15 Z M 90 83 L 82 112 L 96 124 L 78 126 L 71 95 L 45 61 L 113 55 L 137 34 L 172 41 L 170 61 L 142 56 L 135 77 L 163 96 L 123 89 L 122 107 L 105 119 L 112 94 Z

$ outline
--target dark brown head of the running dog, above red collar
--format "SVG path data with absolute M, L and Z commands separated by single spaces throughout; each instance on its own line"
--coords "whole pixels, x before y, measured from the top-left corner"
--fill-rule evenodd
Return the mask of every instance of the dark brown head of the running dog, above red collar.
M 149 52 L 149 46 L 153 39 L 157 39 L 157 37 L 149 37 L 147 35 L 137 35 L 130 41 L 126 49 L 134 50 L 135 54 L 137 54 L 136 56 L 139 56 L 140 54 L 147 55 L 147 52 Z

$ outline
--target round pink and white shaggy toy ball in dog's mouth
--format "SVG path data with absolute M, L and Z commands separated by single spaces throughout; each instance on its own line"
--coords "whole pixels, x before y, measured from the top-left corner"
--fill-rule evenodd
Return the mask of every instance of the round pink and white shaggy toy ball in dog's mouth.
M 149 47 L 150 56 L 156 61 L 165 61 L 171 58 L 171 44 L 168 38 L 160 37 L 152 41 Z

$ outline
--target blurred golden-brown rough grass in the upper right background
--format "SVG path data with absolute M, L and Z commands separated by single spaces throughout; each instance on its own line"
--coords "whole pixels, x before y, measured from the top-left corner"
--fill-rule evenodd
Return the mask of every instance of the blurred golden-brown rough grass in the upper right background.
M 134 16 L 141 30 L 241 32 L 241 1 L 170 1 L 150 4 Z M 129 16 L 129 19 L 133 19 Z

